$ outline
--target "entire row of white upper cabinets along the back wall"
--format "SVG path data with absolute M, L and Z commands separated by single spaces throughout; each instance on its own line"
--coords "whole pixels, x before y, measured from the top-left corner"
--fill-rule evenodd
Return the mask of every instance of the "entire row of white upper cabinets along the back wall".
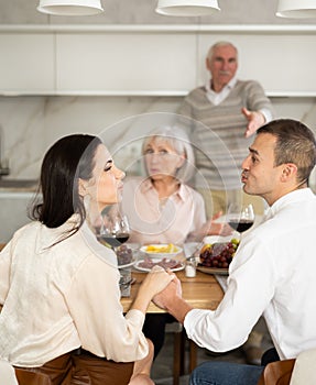
M 185 96 L 220 40 L 268 96 L 316 96 L 315 25 L 2 25 L 0 94 Z

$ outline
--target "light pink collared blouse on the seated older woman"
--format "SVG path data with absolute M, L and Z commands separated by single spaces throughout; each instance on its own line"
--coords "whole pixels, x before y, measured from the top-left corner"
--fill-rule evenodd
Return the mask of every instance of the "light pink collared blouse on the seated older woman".
M 203 197 L 187 185 L 161 201 L 150 178 L 124 183 L 122 211 L 131 227 L 129 242 L 183 244 L 206 221 Z M 192 239 L 194 241 L 194 239 Z

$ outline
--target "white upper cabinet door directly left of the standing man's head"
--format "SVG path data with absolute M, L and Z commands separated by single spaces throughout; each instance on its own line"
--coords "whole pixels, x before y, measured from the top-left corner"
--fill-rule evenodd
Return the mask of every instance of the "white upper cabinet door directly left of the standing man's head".
M 57 33 L 57 91 L 187 91 L 196 84 L 190 33 Z

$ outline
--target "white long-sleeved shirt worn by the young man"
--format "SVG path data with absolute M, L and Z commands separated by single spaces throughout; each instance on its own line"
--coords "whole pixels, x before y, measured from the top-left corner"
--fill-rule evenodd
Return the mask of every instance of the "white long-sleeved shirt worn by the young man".
M 244 235 L 219 307 L 187 314 L 186 332 L 198 345 L 235 349 L 263 314 L 281 359 L 316 348 L 316 197 L 292 191 L 268 218 Z

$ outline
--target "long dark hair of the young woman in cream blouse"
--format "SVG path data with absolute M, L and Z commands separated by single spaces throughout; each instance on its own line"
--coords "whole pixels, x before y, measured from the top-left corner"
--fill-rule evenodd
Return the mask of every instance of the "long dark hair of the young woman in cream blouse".
M 42 201 L 34 204 L 32 219 L 47 228 L 57 228 L 78 213 L 79 223 L 72 233 L 78 231 L 86 219 L 78 179 L 88 180 L 92 177 L 95 154 L 100 144 L 99 138 L 87 134 L 64 136 L 53 144 L 42 163 Z

